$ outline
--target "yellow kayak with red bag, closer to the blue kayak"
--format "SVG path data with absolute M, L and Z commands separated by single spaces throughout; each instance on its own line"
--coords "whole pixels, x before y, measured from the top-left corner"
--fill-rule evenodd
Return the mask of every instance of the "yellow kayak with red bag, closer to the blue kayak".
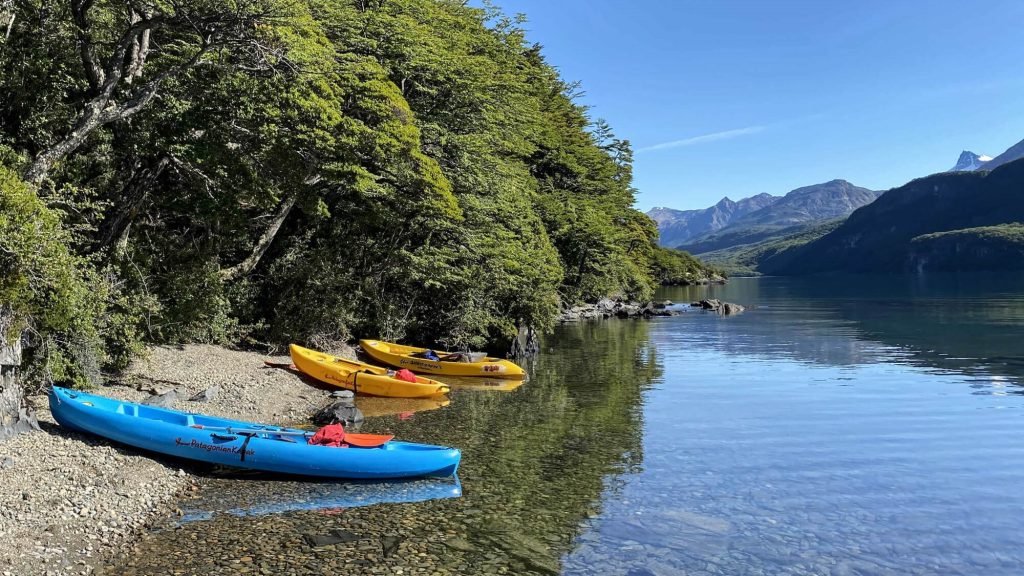
M 445 394 L 447 384 L 417 376 L 407 382 L 388 375 L 386 368 L 338 358 L 295 344 L 291 345 L 292 362 L 302 372 L 322 382 L 350 389 L 356 394 L 389 398 L 430 398 Z

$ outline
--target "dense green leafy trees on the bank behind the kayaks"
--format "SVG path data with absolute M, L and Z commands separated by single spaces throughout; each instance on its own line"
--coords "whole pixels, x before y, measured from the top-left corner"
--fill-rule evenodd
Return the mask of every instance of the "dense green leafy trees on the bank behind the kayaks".
M 629 142 L 496 10 L 0 11 L 0 317 L 41 378 L 151 341 L 481 345 L 703 271 L 654 270 Z

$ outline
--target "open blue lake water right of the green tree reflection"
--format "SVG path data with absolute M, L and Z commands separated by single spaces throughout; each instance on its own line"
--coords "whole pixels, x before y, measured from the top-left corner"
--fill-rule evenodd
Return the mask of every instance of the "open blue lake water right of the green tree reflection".
M 1024 284 L 887 282 L 665 294 L 756 307 L 652 323 L 643 469 L 563 572 L 1024 573 Z

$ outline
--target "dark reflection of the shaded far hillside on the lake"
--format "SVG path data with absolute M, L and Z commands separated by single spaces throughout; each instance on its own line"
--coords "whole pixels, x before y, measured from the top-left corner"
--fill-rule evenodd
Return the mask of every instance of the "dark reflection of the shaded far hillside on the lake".
M 742 320 L 701 327 L 712 346 L 729 354 L 828 365 L 898 359 L 1024 381 L 1019 274 L 742 279 L 667 291 L 665 297 L 760 306 Z

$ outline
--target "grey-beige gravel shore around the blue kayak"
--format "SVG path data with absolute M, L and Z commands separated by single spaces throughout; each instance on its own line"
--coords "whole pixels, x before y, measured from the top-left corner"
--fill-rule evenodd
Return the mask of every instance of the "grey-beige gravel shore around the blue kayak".
M 156 347 L 91 392 L 137 402 L 174 388 L 178 409 L 271 423 L 306 420 L 328 398 L 264 360 L 290 362 L 212 345 Z M 214 385 L 213 400 L 185 400 Z M 195 486 L 182 462 L 61 429 L 45 397 L 30 401 L 42 431 L 0 444 L 0 575 L 90 574 Z

